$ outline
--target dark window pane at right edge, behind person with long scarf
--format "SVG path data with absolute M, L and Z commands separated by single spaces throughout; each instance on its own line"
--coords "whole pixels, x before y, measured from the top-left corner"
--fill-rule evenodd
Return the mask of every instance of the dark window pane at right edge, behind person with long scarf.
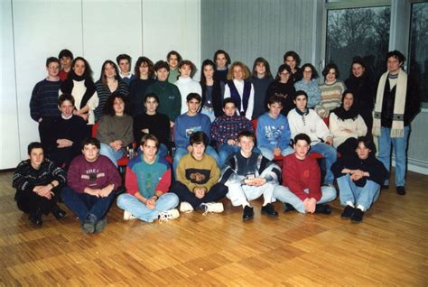
M 412 5 L 409 51 L 409 74 L 418 79 L 421 99 L 428 102 L 428 3 Z

